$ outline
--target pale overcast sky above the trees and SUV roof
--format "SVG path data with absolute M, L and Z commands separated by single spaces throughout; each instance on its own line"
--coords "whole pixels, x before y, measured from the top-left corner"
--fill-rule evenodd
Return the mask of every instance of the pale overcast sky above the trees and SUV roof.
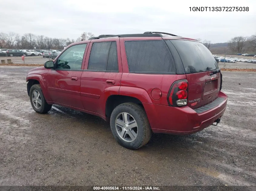
M 249 7 L 249 11 L 190 11 L 189 7 Z M 227 42 L 256 34 L 256 0 L 90 1 L 0 0 L 0 32 L 77 39 L 100 34 L 161 31 Z

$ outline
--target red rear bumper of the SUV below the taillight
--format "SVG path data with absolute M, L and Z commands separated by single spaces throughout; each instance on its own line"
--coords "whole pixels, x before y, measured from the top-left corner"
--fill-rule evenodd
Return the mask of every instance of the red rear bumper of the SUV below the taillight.
M 220 118 L 227 106 L 227 95 L 219 92 L 224 100 L 217 106 L 197 113 L 188 106 L 170 107 L 152 103 L 143 103 L 151 129 L 155 133 L 192 134 L 213 124 Z

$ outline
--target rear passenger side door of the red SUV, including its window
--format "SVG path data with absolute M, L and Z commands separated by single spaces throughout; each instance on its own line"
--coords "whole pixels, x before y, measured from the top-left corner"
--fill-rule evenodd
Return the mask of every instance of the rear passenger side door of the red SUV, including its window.
M 108 96 L 119 92 L 121 72 L 119 38 L 91 40 L 81 76 L 81 101 L 85 110 L 105 115 Z

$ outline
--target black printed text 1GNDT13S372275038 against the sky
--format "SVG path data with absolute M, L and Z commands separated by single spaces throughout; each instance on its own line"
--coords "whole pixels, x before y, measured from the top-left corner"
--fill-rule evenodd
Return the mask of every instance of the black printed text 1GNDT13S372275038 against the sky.
M 189 7 L 190 11 L 249 11 L 249 7 Z

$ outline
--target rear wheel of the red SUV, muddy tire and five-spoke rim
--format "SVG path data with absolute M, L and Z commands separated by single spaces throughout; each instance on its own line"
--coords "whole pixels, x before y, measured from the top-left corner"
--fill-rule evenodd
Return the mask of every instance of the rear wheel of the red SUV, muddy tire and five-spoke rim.
M 152 134 L 145 110 L 131 102 L 122 103 L 113 110 L 110 127 L 117 142 L 129 149 L 147 144 Z

